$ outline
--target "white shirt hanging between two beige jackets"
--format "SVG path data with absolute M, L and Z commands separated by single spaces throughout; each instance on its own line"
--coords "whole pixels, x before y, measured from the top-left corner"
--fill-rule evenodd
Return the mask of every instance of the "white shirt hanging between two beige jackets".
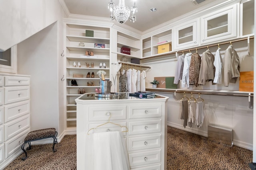
M 221 84 L 221 82 L 222 82 L 221 73 L 222 73 L 223 67 L 222 67 L 222 58 L 220 55 L 220 48 L 216 51 L 216 55 L 215 55 L 213 64 L 215 66 L 215 76 L 214 76 L 213 82 L 216 84 Z

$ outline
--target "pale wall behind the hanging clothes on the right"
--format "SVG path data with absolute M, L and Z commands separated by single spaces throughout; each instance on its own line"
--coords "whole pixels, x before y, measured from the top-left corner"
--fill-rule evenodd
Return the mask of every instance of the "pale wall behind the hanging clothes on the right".
M 221 45 L 222 61 L 224 61 L 224 53 L 227 45 Z M 250 53 L 247 53 L 247 41 L 238 43 L 232 43 L 234 49 L 236 49 L 241 63 L 240 71 L 252 71 L 254 70 L 254 40 L 250 40 Z M 215 55 L 218 47 L 210 48 L 210 51 Z M 198 50 L 200 56 L 206 49 Z M 195 53 L 195 51 L 191 51 Z M 180 53 L 181 55 L 181 53 Z M 154 77 L 162 76 L 174 76 L 177 60 L 174 55 L 165 56 L 162 59 L 157 60 L 142 60 L 143 64 L 150 65 L 151 70 L 146 72 L 146 87 L 151 88 L 151 82 Z M 223 62 L 224 63 L 224 62 Z M 223 82 L 223 81 L 222 81 Z M 211 85 L 207 83 L 204 86 L 190 86 L 193 89 L 207 89 L 207 90 L 239 90 L 239 80 L 236 84 L 230 84 L 228 87 L 224 85 Z M 168 96 L 168 125 L 184 129 L 183 120 L 180 119 L 181 114 L 181 102 L 182 93 L 167 93 L 158 92 L 164 96 Z M 186 94 L 190 98 L 191 94 Z M 208 124 L 220 125 L 223 127 L 229 127 L 233 129 L 234 145 L 244 147 L 252 150 L 252 134 L 253 134 L 253 109 L 249 109 L 248 97 L 237 97 L 237 96 L 218 96 L 218 95 L 200 95 L 204 99 L 204 125 L 201 128 L 193 126 L 192 128 L 186 127 L 184 130 L 198 133 L 200 135 L 207 136 Z M 193 94 L 193 97 L 197 98 L 198 94 Z

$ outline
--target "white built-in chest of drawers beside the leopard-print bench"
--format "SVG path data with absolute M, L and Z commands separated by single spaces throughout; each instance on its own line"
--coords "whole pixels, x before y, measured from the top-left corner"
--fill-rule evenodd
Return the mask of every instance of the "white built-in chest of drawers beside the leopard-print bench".
M 30 131 L 30 76 L 1 75 L 0 169 L 20 153 Z

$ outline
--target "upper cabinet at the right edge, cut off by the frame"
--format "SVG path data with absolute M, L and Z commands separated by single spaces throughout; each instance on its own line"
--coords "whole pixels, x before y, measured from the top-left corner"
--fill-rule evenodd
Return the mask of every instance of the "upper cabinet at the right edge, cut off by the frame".
M 240 36 L 254 35 L 254 0 L 243 0 L 240 4 Z

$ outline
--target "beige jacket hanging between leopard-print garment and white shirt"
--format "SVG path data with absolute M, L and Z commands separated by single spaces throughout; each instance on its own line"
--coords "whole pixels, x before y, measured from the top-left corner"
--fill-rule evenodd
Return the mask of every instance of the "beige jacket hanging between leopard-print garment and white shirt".
M 202 54 L 198 84 L 204 85 L 205 82 L 214 80 L 215 66 L 213 63 L 214 55 L 210 52 L 210 50 L 206 50 Z M 212 84 L 214 83 L 212 82 Z

